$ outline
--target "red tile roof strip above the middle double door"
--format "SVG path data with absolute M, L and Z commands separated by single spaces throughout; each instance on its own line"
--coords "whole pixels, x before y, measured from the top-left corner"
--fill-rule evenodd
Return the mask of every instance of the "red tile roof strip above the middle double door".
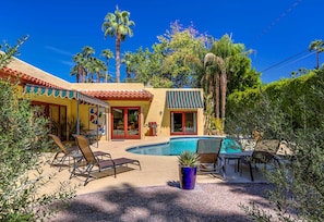
M 101 100 L 147 100 L 153 99 L 153 94 L 141 90 L 84 90 L 82 91 L 88 96 Z

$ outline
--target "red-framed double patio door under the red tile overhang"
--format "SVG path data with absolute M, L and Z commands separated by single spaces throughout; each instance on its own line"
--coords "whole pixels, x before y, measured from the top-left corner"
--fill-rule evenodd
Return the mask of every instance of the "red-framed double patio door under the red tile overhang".
M 113 107 L 111 114 L 112 139 L 141 138 L 139 107 Z

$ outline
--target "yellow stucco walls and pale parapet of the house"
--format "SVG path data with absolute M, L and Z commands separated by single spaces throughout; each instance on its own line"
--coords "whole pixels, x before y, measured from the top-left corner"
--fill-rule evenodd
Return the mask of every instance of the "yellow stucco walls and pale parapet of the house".
M 167 88 L 152 88 L 145 87 L 141 83 L 69 83 L 55 75 L 44 72 L 24 61 L 14 59 L 9 67 L 26 73 L 34 76 L 37 79 L 41 79 L 46 83 L 51 83 L 56 86 L 60 86 L 64 89 L 81 90 L 86 94 L 87 90 L 142 90 L 145 89 L 154 95 L 152 101 L 106 101 L 109 103 L 110 108 L 106 109 L 106 123 L 108 130 L 108 137 L 104 139 L 110 139 L 110 120 L 111 120 L 111 107 L 141 107 L 141 138 L 144 138 L 145 133 L 148 131 L 148 122 L 157 122 L 157 135 L 169 136 L 170 135 L 170 111 L 166 107 L 166 91 L 167 90 L 200 90 L 203 99 L 203 89 L 167 89 Z M 36 96 L 33 98 L 35 101 L 67 106 L 67 116 L 68 121 L 72 118 L 76 118 L 76 101 L 73 99 L 62 99 L 47 96 Z M 79 115 L 81 122 L 86 128 L 89 127 L 89 104 L 79 106 Z M 177 111 L 196 111 L 197 112 L 197 135 L 203 135 L 203 109 L 196 110 L 177 110 Z

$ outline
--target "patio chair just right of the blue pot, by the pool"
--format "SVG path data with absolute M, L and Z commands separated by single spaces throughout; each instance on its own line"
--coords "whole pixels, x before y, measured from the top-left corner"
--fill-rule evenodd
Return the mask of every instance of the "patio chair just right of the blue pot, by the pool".
M 200 155 L 199 174 L 221 174 L 226 178 L 223 159 L 219 157 L 223 138 L 199 139 L 196 152 Z

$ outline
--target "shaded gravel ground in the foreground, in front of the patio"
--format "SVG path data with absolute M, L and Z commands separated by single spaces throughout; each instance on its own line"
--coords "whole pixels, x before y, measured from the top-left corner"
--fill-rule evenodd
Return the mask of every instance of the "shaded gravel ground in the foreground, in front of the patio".
M 239 205 L 255 201 L 265 209 L 264 190 L 269 184 L 196 184 L 192 190 L 179 184 L 128 187 L 80 195 L 56 221 L 250 221 Z

